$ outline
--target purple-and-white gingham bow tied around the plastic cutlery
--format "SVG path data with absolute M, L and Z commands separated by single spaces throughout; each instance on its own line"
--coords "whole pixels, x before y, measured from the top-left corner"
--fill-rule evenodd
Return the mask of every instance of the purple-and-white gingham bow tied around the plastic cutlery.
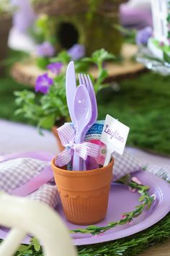
M 57 130 L 61 143 L 66 148 L 56 158 L 55 163 L 57 166 L 61 167 L 69 163 L 71 161 L 73 151 L 76 151 L 79 157 L 83 158 L 84 160 L 86 160 L 88 155 L 93 158 L 97 158 L 99 155 L 99 145 L 91 142 L 82 142 L 79 144 L 74 143 L 75 130 L 70 124 L 63 124 L 63 126 Z

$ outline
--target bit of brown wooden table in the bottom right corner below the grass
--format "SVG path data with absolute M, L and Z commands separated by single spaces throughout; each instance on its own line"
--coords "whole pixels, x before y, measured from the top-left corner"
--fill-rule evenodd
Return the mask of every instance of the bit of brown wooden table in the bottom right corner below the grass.
M 164 244 L 157 244 L 153 247 L 149 247 L 138 256 L 170 256 L 170 239 Z

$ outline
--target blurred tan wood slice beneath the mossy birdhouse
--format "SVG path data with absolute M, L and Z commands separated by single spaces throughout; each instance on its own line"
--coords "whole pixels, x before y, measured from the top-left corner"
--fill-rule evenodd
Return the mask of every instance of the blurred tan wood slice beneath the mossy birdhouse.
M 121 62 L 107 63 L 108 81 L 117 80 L 120 77 L 127 77 L 146 69 L 143 64 L 132 60 L 133 56 L 138 52 L 138 46 L 124 43 L 122 45 Z M 12 77 L 23 85 L 35 86 L 35 81 L 40 74 L 44 74 L 44 70 L 37 67 L 35 59 L 32 57 L 20 62 L 16 62 L 12 67 Z M 91 67 L 90 74 L 97 77 L 97 68 Z M 50 72 L 48 72 L 50 73 Z M 50 76 L 52 74 L 50 73 Z

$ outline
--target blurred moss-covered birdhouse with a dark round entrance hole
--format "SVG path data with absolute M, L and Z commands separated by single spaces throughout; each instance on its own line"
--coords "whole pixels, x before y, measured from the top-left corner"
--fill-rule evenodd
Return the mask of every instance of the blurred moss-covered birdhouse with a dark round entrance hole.
M 122 35 L 114 27 L 119 23 L 117 1 L 81 0 L 79 4 L 70 0 L 50 0 L 48 3 L 35 1 L 35 7 L 37 12 L 48 14 L 48 18 L 46 14 L 43 15 L 46 17 L 44 23 L 40 19 L 40 29 L 43 28 L 45 40 L 52 42 L 55 38 L 57 51 L 71 48 L 75 43 L 82 43 L 88 56 L 99 48 L 105 48 L 116 55 L 120 53 Z

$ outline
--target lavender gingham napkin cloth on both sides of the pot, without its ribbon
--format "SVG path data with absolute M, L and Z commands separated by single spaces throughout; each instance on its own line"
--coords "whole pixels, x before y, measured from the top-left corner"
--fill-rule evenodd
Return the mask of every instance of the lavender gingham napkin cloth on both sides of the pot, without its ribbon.
M 114 153 L 115 164 L 113 180 L 120 179 L 126 174 L 133 173 L 140 169 L 138 161 L 133 158 L 126 150 L 123 155 Z M 42 161 L 35 158 L 14 158 L 8 161 L 0 162 L 0 191 L 12 194 L 14 189 L 27 184 L 31 179 L 34 179 L 45 168 L 50 165 L 48 161 Z M 42 184 L 39 189 L 27 195 L 32 200 L 45 202 L 51 208 L 59 202 L 57 187 L 53 179 L 47 184 Z

